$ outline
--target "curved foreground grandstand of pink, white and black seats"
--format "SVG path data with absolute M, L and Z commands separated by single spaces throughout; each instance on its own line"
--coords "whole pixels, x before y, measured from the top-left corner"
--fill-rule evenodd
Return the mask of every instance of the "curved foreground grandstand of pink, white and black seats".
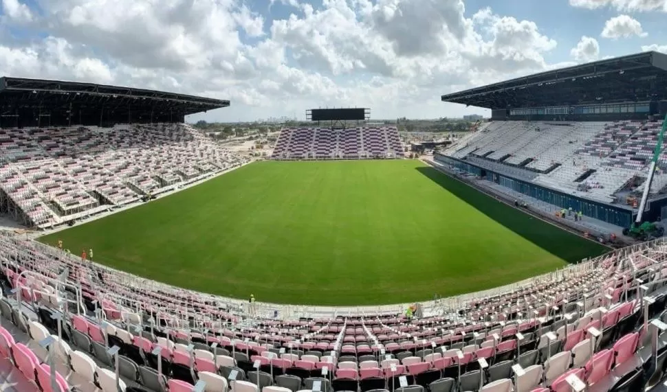
M 642 391 L 664 375 L 664 239 L 425 303 L 419 319 L 244 306 L 11 234 L 0 249 L 1 363 L 21 392 Z

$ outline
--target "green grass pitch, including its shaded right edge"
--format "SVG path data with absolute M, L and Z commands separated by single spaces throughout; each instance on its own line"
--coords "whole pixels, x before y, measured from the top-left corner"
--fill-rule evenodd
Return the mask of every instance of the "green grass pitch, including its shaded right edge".
M 606 251 L 413 160 L 253 163 L 40 240 L 168 284 L 317 305 L 483 290 Z

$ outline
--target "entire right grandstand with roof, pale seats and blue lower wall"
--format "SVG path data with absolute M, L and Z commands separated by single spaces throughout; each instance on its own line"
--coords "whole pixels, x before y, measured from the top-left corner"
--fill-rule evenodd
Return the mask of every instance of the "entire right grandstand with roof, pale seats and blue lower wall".
M 600 60 L 442 95 L 441 100 L 490 108 L 490 124 L 496 125 L 483 123 L 479 129 L 500 130 L 484 148 L 480 137 L 472 137 L 436 154 L 436 161 L 518 194 L 628 227 L 637 208 L 625 203 L 624 191 L 642 182 L 659 122 L 667 114 L 667 55 L 649 51 Z M 540 131 L 542 135 L 532 136 Z M 525 133 L 518 135 L 521 132 Z M 541 150 L 534 147 L 549 132 L 562 137 L 554 137 Z M 514 149 L 504 144 L 512 135 L 518 135 Z M 527 138 L 532 141 L 523 146 Z M 522 147 L 532 154 L 522 156 Z M 643 149 L 641 156 L 637 149 Z M 536 163 L 540 158 L 542 163 Z M 572 174 L 565 181 L 568 171 Z M 595 180 L 602 176 L 622 180 L 593 185 L 606 187 L 604 191 L 584 189 L 590 187 L 584 184 L 591 175 Z M 667 216 L 667 198 L 659 188 L 653 192 L 651 187 L 644 213 L 649 220 Z

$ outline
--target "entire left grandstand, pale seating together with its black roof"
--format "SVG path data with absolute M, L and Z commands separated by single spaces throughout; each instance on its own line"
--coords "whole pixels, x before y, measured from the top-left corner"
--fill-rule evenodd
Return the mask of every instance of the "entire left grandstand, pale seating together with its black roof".
M 159 91 L 2 78 L 0 211 L 45 229 L 237 167 L 243 159 L 182 124 L 184 115 L 224 106 Z

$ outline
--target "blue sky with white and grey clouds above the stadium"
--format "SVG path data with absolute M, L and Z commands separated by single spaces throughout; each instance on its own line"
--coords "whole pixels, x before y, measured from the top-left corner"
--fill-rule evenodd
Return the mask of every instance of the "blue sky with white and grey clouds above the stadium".
M 370 107 L 485 114 L 439 95 L 644 50 L 667 0 L 0 0 L 0 76 L 231 100 L 190 120 Z

